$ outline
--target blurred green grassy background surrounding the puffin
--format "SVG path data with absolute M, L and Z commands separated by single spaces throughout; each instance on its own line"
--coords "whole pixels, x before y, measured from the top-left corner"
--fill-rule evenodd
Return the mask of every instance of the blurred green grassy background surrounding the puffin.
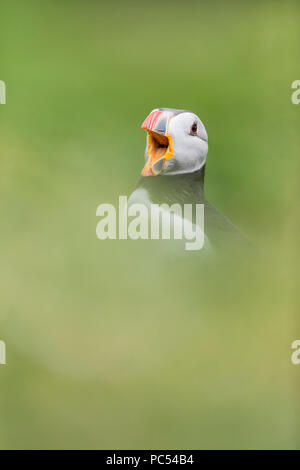
M 299 3 L 1 4 L 0 447 L 299 448 Z M 238 262 L 99 241 L 191 109 Z

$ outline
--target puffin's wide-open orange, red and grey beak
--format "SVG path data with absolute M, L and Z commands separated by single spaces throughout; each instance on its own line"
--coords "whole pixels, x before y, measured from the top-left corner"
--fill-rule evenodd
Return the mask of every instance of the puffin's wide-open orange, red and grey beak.
M 173 157 L 172 137 L 168 134 L 170 111 L 152 111 L 142 124 L 148 132 L 147 162 L 142 176 L 156 176 L 163 171 L 165 162 Z

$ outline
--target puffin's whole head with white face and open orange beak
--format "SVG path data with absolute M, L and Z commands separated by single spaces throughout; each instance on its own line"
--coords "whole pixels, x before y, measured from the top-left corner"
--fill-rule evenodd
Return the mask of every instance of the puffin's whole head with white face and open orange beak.
M 191 111 L 159 108 L 142 124 L 147 131 L 142 176 L 179 175 L 200 170 L 206 161 L 208 137 Z

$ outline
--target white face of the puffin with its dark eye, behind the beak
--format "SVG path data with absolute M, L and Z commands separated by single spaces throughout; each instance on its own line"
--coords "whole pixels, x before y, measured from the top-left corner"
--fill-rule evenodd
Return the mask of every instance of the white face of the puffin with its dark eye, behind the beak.
M 204 166 L 208 152 L 208 136 L 196 114 L 181 112 L 170 116 L 165 135 L 171 137 L 173 151 L 166 154 L 168 157 L 162 165 L 159 164 L 162 162 L 160 159 L 152 166 L 153 169 L 161 166 L 160 174 L 179 175 L 193 173 Z M 170 144 L 168 148 L 170 149 Z M 156 174 L 154 170 L 153 173 Z

